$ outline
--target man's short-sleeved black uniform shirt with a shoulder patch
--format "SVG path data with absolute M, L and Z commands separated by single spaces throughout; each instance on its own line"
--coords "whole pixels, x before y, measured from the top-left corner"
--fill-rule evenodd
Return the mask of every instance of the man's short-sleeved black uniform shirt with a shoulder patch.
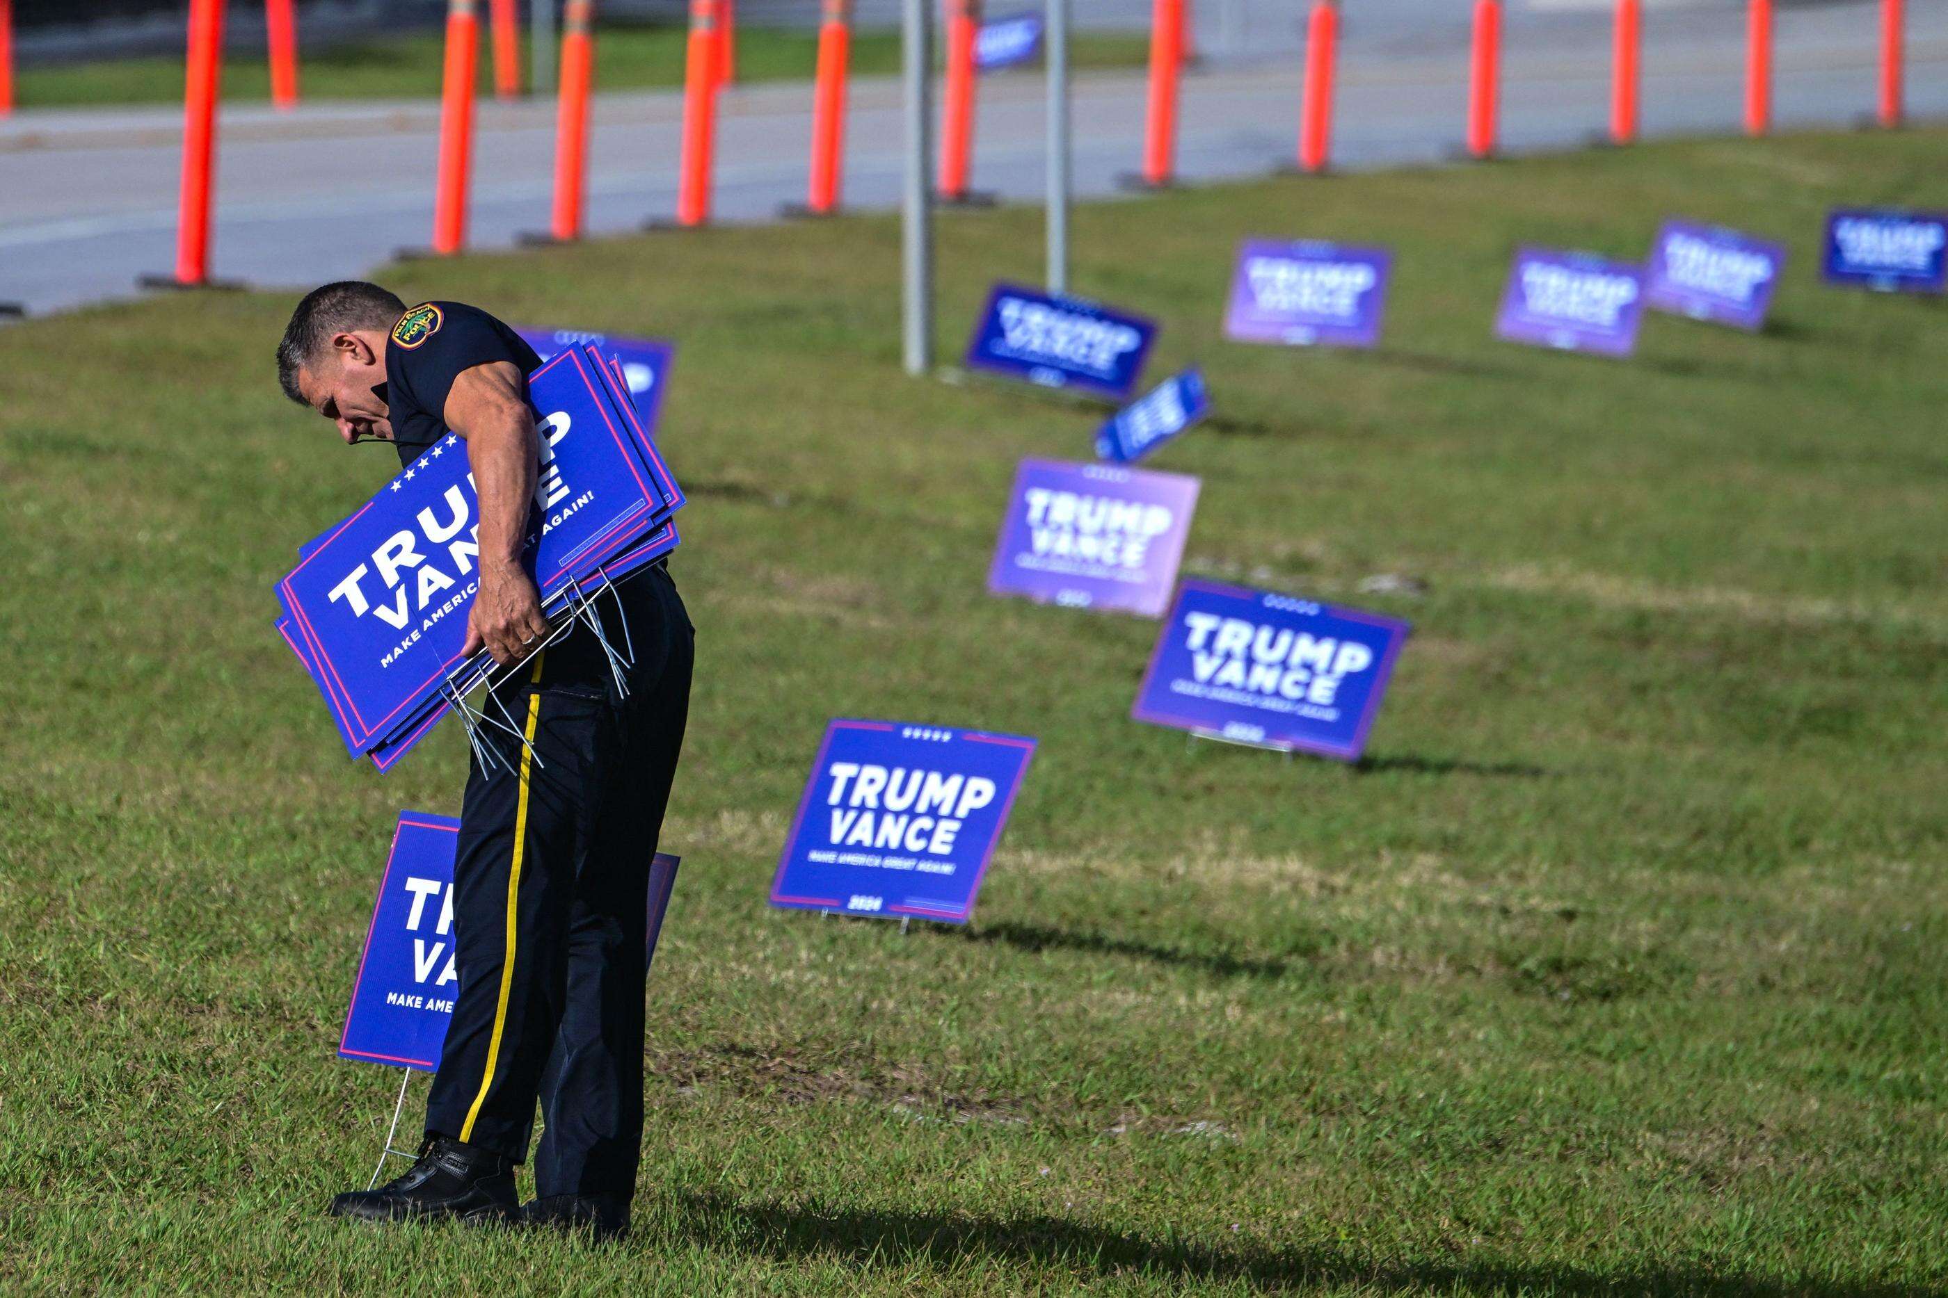
M 452 432 L 446 395 L 454 379 L 495 360 L 514 362 L 522 395 L 528 376 L 542 366 L 518 333 L 464 302 L 421 302 L 399 317 L 386 339 L 386 411 L 401 465 Z

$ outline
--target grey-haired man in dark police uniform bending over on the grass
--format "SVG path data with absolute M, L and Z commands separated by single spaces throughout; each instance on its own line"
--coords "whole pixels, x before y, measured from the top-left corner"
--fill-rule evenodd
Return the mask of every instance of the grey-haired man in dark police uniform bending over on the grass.
M 335 1216 L 458 1216 L 588 1226 L 616 1236 L 643 1148 L 643 981 L 649 864 L 690 706 L 692 627 L 664 564 L 614 588 L 635 664 L 616 681 L 582 625 L 549 636 L 522 564 L 540 440 L 528 374 L 540 366 L 493 315 L 458 302 L 411 309 L 341 282 L 298 304 L 277 348 L 284 393 L 347 444 L 393 442 L 409 465 L 466 438 L 479 492 L 479 594 L 468 652 L 522 739 L 483 726 L 454 864 L 460 992 L 427 1100 L 419 1162 L 339 1195 Z M 606 615 L 610 595 L 600 599 Z M 618 629 L 610 627 L 614 642 Z M 518 664 L 518 666 L 516 666 Z M 514 1195 L 540 1100 L 536 1199 Z

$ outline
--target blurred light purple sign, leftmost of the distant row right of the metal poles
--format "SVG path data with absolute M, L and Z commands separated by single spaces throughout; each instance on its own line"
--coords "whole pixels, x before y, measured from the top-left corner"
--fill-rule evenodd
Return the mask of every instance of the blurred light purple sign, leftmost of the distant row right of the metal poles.
M 1247 239 L 1223 331 L 1239 343 L 1373 346 L 1393 253 L 1342 243 Z

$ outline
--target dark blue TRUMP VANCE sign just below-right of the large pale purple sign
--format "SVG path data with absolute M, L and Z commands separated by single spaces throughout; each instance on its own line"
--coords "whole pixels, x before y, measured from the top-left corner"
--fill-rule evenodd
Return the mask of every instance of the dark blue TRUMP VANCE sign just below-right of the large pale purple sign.
M 1130 714 L 1210 739 L 1358 761 L 1408 625 L 1184 582 Z

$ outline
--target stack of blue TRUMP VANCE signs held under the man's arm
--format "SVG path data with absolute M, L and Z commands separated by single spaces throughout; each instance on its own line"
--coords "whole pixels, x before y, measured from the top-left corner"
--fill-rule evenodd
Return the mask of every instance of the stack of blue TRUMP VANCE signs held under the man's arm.
M 614 582 L 676 549 L 684 494 L 629 395 L 625 372 L 567 346 L 528 379 L 542 475 L 524 562 L 553 634 L 588 623 Z M 298 551 L 277 584 L 279 634 L 323 695 L 347 753 L 386 771 L 489 681 L 485 650 L 462 656 L 479 584 L 479 502 L 466 444 L 448 434 L 351 518 Z M 489 704 L 491 706 L 491 704 Z M 471 724 L 469 724 L 471 739 Z M 475 753 L 487 753 L 475 745 Z

